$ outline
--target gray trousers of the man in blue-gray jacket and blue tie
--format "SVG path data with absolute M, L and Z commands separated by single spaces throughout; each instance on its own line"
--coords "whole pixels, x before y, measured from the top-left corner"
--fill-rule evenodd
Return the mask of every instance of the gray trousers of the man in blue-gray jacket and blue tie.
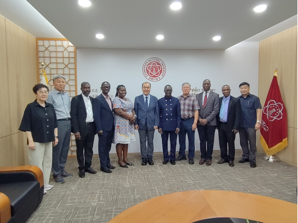
M 140 147 L 141 147 L 141 157 L 142 158 L 152 158 L 153 157 L 153 137 L 154 131 L 147 128 L 147 123 L 145 122 L 144 128 L 139 129 L 140 137 Z M 147 146 L 146 146 L 146 141 Z

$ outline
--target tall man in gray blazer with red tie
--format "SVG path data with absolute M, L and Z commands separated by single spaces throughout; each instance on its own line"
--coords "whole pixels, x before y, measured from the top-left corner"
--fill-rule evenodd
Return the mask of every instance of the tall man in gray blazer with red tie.
M 219 111 L 219 95 L 211 91 L 210 88 L 211 82 L 206 79 L 203 81 L 204 91 L 196 95 L 200 106 L 198 132 L 200 138 L 201 160 L 199 161 L 199 164 L 202 165 L 206 162 L 207 166 L 212 164 L 214 135 L 217 125 L 216 115 Z

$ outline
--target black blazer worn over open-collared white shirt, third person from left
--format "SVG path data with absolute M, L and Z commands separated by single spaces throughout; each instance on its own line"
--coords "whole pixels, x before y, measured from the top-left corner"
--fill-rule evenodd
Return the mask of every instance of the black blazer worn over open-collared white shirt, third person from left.
M 90 102 L 93 107 L 93 98 L 89 96 Z M 82 94 L 77 95 L 71 99 L 70 103 L 70 117 L 71 117 L 71 132 L 80 132 L 81 135 L 87 134 L 86 132 L 86 106 Z M 94 128 L 94 134 L 96 129 Z

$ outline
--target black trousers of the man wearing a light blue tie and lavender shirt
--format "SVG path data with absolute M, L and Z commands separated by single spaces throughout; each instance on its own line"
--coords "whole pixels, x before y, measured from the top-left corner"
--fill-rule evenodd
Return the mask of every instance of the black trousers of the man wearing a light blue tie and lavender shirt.
M 219 148 L 221 149 L 221 159 L 234 161 L 235 159 L 235 134 L 229 131 L 227 124 L 219 122 L 218 125 Z M 228 154 L 229 147 L 229 154 Z

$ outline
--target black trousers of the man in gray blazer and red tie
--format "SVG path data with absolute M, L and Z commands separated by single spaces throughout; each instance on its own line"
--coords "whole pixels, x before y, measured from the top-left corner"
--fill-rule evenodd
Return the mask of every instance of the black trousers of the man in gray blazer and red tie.
M 201 159 L 212 160 L 215 129 L 216 125 L 198 125 Z

